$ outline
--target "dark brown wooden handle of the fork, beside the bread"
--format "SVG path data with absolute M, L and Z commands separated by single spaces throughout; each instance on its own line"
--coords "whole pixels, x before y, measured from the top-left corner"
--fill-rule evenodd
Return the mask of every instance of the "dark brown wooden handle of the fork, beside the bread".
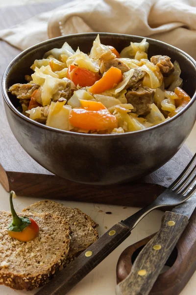
M 103 236 L 81 253 L 70 265 L 61 270 L 36 295 L 65 295 L 92 269 L 117 248 L 131 231 L 122 223 L 116 223 Z

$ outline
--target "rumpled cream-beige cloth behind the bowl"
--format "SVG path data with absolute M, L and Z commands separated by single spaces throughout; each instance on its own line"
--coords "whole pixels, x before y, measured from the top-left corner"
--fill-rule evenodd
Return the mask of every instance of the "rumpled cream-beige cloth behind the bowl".
M 158 39 L 196 59 L 196 0 L 75 0 L 0 31 L 22 50 L 79 32 L 115 32 Z

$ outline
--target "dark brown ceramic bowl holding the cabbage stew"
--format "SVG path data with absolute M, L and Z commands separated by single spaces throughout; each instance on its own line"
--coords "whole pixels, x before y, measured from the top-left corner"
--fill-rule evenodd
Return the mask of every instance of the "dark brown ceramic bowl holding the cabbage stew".
M 101 42 L 118 51 L 143 37 L 99 33 Z M 8 65 L 2 79 L 4 106 L 10 128 L 25 151 L 50 172 L 77 182 L 113 184 L 145 176 L 172 158 L 196 121 L 196 61 L 166 43 L 148 39 L 148 58 L 168 55 L 180 64 L 183 89 L 191 102 L 175 117 L 142 131 L 117 135 L 81 134 L 57 130 L 22 115 L 19 101 L 8 92 L 14 83 L 25 83 L 30 65 L 45 52 L 67 41 L 74 50 L 88 53 L 97 33 L 82 33 L 50 39 L 19 54 Z

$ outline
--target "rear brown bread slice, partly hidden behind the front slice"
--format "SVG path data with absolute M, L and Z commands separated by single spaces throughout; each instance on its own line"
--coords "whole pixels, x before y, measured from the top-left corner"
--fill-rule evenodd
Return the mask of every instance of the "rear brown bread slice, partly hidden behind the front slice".
M 54 201 L 44 200 L 26 207 L 23 211 L 37 213 L 50 212 L 65 218 L 71 229 L 71 243 L 67 263 L 72 261 L 98 239 L 97 223 L 77 208 L 73 209 Z

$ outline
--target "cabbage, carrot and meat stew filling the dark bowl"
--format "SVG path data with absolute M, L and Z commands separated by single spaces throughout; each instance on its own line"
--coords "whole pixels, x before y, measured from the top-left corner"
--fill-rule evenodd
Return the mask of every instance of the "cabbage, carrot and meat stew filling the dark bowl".
M 131 42 L 121 52 L 101 44 L 89 54 L 65 42 L 31 65 L 26 84 L 9 91 L 23 114 L 57 129 L 118 134 L 146 129 L 178 114 L 190 101 L 182 90 L 179 63 L 147 57 L 148 42 Z

